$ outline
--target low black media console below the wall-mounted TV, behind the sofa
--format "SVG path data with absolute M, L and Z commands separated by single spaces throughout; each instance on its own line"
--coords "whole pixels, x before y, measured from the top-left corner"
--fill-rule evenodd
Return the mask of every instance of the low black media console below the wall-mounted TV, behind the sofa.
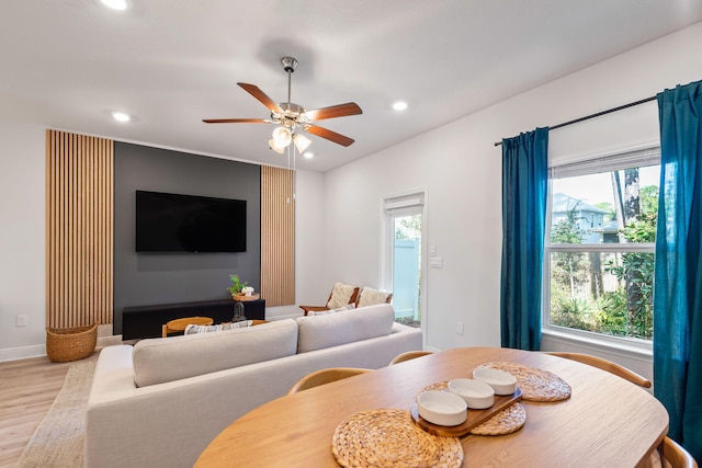
M 125 307 L 122 309 L 122 340 L 160 338 L 163 323 L 183 317 L 211 317 L 215 323 L 228 322 L 234 317 L 234 304 L 231 299 L 217 299 Z M 241 304 L 247 319 L 265 320 L 265 299 Z

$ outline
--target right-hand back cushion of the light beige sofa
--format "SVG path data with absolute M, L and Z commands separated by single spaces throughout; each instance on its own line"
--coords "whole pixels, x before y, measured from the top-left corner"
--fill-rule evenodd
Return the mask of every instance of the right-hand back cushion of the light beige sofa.
M 297 352 L 305 353 L 390 334 L 395 312 L 389 304 L 381 304 L 296 321 Z

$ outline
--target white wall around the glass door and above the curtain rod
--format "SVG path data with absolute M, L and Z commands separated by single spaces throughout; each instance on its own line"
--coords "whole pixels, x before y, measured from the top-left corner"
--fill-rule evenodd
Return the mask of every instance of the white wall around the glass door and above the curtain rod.
M 336 279 L 376 285 L 382 196 L 427 187 L 428 243 L 444 264 L 428 270 L 427 346 L 499 345 L 501 149 L 494 142 L 700 80 L 699 44 L 702 23 L 327 173 L 321 289 Z M 653 102 L 554 130 L 550 158 L 655 142 L 657 122 Z

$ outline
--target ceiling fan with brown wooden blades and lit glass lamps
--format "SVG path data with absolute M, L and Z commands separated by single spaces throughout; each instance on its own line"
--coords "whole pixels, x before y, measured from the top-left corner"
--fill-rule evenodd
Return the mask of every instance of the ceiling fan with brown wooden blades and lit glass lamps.
M 273 130 L 273 138 L 269 140 L 269 146 L 272 150 L 280 153 L 283 153 L 292 141 L 294 141 L 299 152 L 303 152 L 312 144 L 310 139 L 299 133 L 301 129 L 341 146 L 350 146 L 353 144 L 353 139 L 315 125 L 315 122 L 362 114 L 363 111 L 361 107 L 354 102 L 348 102 L 346 104 L 305 111 L 305 107 L 291 102 L 290 99 L 291 77 L 295 68 L 297 68 L 297 60 L 293 57 L 283 57 L 281 65 L 287 72 L 287 102 L 276 104 L 256 84 L 237 83 L 271 111 L 271 118 L 205 118 L 203 122 L 206 124 L 275 124 L 278 127 Z

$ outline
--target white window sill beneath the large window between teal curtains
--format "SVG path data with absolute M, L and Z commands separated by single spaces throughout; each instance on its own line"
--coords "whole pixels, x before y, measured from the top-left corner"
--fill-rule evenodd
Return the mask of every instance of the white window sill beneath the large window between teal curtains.
M 653 344 L 644 341 L 599 336 L 596 333 L 542 328 L 542 338 L 554 343 L 587 347 L 646 363 L 653 361 Z

